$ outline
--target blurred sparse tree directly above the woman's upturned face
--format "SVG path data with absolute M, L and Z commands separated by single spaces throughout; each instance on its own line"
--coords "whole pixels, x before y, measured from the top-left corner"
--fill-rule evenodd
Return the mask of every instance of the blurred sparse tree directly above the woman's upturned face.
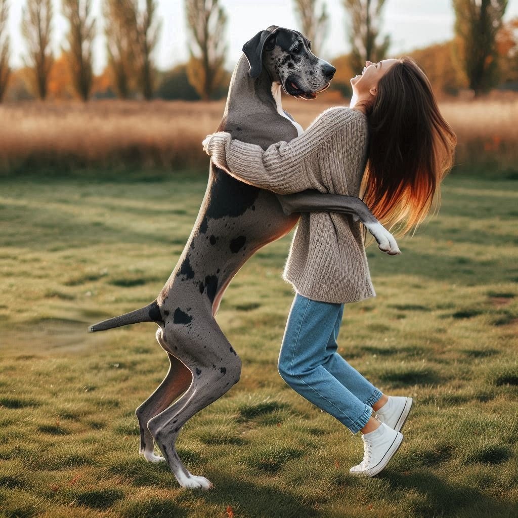
M 367 60 L 377 63 L 390 47 L 390 36 L 380 41 L 381 15 L 385 0 L 343 0 L 351 19 L 351 67 L 362 70 Z

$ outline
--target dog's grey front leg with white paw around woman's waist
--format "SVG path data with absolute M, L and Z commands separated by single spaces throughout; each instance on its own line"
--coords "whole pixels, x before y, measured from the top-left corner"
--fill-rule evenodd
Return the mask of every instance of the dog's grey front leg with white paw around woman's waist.
M 376 219 L 367 205 L 356 196 L 325 194 L 306 190 L 295 194 L 277 194 L 284 214 L 294 212 L 337 212 L 351 214 L 353 221 L 361 221 L 378 243 L 378 248 L 389 255 L 399 255 L 401 251 L 394 236 Z

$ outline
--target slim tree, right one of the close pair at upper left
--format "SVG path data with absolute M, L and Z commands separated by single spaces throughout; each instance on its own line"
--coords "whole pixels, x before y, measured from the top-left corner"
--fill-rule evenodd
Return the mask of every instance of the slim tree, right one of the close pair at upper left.
M 135 6 L 135 8 L 137 8 Z M 138 83 L 145 99 L 153 96 L 153 76 L 155 70 L 151 53 L 158 41 L 162 23 L 156 20 L 156 1 L 146 0 L 146 8 L 137 13 L 137 63 Z

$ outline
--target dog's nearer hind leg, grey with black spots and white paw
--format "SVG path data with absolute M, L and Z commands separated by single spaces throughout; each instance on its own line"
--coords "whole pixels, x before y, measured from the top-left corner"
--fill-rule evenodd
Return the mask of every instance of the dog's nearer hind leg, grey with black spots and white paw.
M 179 356 L 192 369 L 193 381 L 180 399 L 151 419 L 148 428 L 181 486 L 210 489 L 209 480 L 192 475 L 182 464 L 175 442 L 180 428 L 195 413 L 239 381 L 241 360 L 211 316 L 196 319 L 196 323 L 200 327 L 190 331 L 187 326 L 171 326 L 169 330 L 166 326 L 164 340 L 178 343 Z

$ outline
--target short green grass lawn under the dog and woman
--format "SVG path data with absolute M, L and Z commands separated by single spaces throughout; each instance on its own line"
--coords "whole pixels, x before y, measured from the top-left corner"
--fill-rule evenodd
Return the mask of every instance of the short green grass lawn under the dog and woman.
M 280 378 L 291 235 L 258 252 L 218 314 L 241 380 L 177 441 L 199 492 L 138 454 L 135 408 L 168 367 L 153 325 L 86 332 L 153 300 L 191 231 L 205 175 L 148 176 L 2 179 L 1 518 L 518 515 L 515 181 L 450 176 L 400 256 L 367 249 L 377 297 L 346 306 L 339 352 L 414 398 L 375 478 L 349 474 L 359 434 Z

